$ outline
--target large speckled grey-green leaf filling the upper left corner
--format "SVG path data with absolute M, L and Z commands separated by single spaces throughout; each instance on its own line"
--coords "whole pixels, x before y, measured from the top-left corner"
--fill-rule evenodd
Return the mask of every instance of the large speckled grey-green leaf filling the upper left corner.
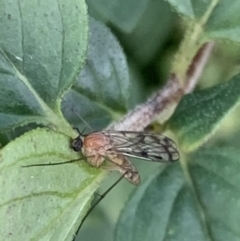
M 0 3 L 0 128 L 30 122 L 56 124 L 61 97 L 84 62 L 85 3 Z

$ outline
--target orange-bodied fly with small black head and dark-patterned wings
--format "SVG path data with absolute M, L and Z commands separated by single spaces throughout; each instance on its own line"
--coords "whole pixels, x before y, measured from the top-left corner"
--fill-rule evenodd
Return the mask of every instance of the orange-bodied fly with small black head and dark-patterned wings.
M 102 168 L 117 170 L 135 185 L 139 184 L 140 176 L 127 157 L 166 163 L 179 159 L 174 141 L 163 135 L 146 132 L 106 130 L 88 135 L 79 132 L 71 146 L 74 151 L 81 151 L 94 167 L 102 166 L 107 159 L 109 165 Z

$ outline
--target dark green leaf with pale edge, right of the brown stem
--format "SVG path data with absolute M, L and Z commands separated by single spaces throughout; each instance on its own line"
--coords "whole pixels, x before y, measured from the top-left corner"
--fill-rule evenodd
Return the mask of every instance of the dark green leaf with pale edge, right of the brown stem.
M 221 120 L 239 103 L 240 75 L 215 87 L 186 95 L 174 112 L 169 128 L 179 145 L 191 151 L 207 141 Z

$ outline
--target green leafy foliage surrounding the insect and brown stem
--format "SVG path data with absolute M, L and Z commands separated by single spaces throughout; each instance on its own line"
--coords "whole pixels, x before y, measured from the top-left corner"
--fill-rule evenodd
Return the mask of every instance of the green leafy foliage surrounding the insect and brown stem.
M 184 96 L 164 125 L 181 160 L 152 164 L 154 171 L 138 163 L 149 177 L 127 201 L 114 240 L 239 240 L 238 126 L 228 124 L 234 137 L 218 135 L 223 119 L 237 118 L 239 1 L 0 3 L 1 240 L 72 240 L 106 173 L 84 161 L 22 166 L 81 158 L 69 147 L 72 125 L 85 126 L 78 115 L 103 129 L 164 84 L 166 72 L 184 86 L 192 58 L 211 40 L 218 45 L 202 90 Z M 125 189 L 108 209 L 123 202 Z M 100 219 L 114 226 L 109 220 Z M 93 230 L 98 240 L 113 239 L 90 229 L 84 240 Z

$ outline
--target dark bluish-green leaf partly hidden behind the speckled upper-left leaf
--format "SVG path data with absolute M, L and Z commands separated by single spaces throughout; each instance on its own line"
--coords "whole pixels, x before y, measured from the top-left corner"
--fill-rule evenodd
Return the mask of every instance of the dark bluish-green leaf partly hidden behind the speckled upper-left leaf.
M 103 128 L 126 111 L 129 89 L 128 66 L 122 48 L 104 25 L 90 19 L 87 61 L 65 97 L 63 112 L 75 125 L 82 121 L 74 109 L 91 126 Z

